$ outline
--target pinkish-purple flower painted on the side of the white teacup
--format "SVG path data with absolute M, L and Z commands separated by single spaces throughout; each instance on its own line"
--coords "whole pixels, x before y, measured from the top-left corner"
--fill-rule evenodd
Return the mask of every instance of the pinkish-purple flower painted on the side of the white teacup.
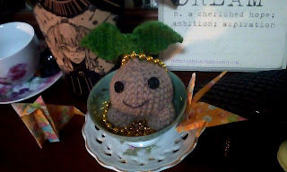
M 27 64 L 16 64 L 11 67 L 4 78 L 0 77 L 0 84 L 10 84 L 13 81 L 21 79 L 26 74 Z

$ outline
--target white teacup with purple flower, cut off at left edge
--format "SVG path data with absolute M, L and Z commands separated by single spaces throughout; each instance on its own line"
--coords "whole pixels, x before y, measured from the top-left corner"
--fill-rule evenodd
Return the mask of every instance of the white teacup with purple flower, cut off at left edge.
M 39 41 L 30 24 L 0 25 L 0 84 L 28 81 L 39 66 Z

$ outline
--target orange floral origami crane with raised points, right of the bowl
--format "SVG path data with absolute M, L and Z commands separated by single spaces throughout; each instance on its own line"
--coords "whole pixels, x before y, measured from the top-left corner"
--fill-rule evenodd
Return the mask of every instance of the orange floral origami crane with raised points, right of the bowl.
M 225 73 L 226 72 L 221 73 L 214 78 L 212 82 L 207 83 L 203 89 L 196 93 L 194 98 L 192 97 L 192 94 L 195 87 L 196 74 L 193 73 L 187 88 L 187 109 L 185 111 L 185 119 L 176 128 L 178 133 L 198 128 L 197 136 L 199 136 L 204 127 L 225 125 L 232 122 L 247 120 L 246 118 L 232 114 L 222 108 L 198 101 Z

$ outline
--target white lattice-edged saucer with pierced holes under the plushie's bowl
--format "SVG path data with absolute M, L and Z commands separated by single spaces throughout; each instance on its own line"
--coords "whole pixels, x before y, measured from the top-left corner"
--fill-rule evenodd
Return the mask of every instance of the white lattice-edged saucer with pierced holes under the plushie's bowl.
M 177 165 L 195 149 L 196 130 L 178 133 L 174 128 L 157 142 L 135 148 L 96 128 L 87 114 L 83 125 L 85 146 L 101 166 L 116 171 L 161 171 Z

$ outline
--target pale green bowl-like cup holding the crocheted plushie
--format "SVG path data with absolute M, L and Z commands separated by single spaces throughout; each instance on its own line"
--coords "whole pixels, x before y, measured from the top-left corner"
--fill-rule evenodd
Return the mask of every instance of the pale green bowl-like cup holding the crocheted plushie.
M 143 136 L 124 136 L 110 132 L 102 121 L 103 109 L 101 109 L 101 107 L 104 107 L 104 102 L 109 101 L 109 82 L 111 81 L 111 78 L 115 73 L 117 73 L 117 71 L 109 73 L 108 75 L 100 79 L 100 81 L 97 82 L 97 84 L 92 88 L 89 95 L 88 113 L 91 116 L 91 120 L 94 125 L 96 125 L 96 127 L 100 128 L 100 130 L 102 130 L 104 133 L 107 133 L 120 141 L 129 142 L 130 145 L 135 147 L 144 147 L 151 145 L 152 142 L 155 142 L 162 135 L 162 133 L 166 133 L 170 129 L 174 129 L 174 127 L 182 119 L 184 111 L 187 107 L 187 90 L 184 83 L 181 82 L 181 80 L 176 74 L 168 72 L 173 85 L 172 103 L 176 109 L 176 120 L 167 127 L 161 129 L 160 131 L 157 131 L 156 133 Z

